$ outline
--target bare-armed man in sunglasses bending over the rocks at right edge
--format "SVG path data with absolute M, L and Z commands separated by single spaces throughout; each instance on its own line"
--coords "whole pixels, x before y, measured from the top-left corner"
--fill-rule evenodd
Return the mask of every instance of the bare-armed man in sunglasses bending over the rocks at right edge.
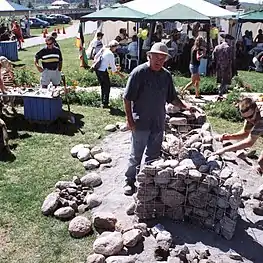
M 239 111 L 245 119 L 243 129 L 233 134 L 223 134 L 219 136 L 220 141 L 241 140 L 238 143 L 224 147 L 215 154 L 222 155 L 225 152 L 235 152 L 245 148 L 252 147 L 257 139 L 263 135 L 263 109 L 260 108 L 251 98 L 243 98 L 239 102 Z M 263 172 L 263 151 L 261 152 L 256 170 L 262 174 Z

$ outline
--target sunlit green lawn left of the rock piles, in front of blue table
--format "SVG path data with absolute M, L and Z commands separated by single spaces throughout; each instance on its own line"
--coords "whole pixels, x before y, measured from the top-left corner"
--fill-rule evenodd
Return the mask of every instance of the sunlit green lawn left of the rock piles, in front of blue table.
M 67 222 L 45 217 L 40 208 L 58 180 L 84 175 L 81 163 L 70 149 L 78 143 L 96 142 L 108 123 L 122 120 L 107 110 L 72 106 L 84 118 L 85 135 L 28 132 L 31 137 L 11 140 L 17 144 L 16 160 L 0 166 L 0 262 L 84 262 L 94 236 L 73 239 Z

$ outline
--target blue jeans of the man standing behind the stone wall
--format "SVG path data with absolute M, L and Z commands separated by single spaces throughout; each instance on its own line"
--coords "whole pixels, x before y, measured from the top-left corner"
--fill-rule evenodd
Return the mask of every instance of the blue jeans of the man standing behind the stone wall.
M 145 162 L 157 159 L 161 153 L 163 131 L 135 130 L 131 138 L 131 154 L 128 169 L 125 173 L 127 182 L 135 182 L 136 167 L 141 165 L 145 151 Z

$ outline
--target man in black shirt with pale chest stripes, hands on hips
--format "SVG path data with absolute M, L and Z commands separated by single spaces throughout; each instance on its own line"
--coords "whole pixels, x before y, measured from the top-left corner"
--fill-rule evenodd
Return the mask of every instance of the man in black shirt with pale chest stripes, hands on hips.
M 42 48 L 35 56 L 35 66 L 41 73 L 41 86 L 47 88 L 51 82 L 54 86 L 58 86 L 61 81 L 62 55 L 59 48 L 54 46 L 55 39 L 53 37 L 46 38 L 46 47 Z M 39 60 L 42 60 L 42 67 Z

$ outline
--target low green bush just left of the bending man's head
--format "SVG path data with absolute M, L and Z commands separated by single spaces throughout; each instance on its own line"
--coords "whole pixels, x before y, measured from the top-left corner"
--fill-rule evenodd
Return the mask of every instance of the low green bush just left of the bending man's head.
M 231 91 L 226 100 L 210 102 L 204 106 L 206 113 L 210 116 L 223 118 L 229 121 L 240 122 L 243 121 L 239 110 L 237 108 L 237 102 L 240 98 L 240 91 Z

